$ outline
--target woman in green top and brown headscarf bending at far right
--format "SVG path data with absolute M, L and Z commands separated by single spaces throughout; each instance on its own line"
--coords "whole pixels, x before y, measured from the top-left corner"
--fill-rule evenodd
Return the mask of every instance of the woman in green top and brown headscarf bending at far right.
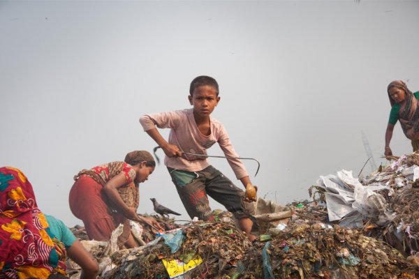
M 384 155 L 392 156 L 390 141 L 397 120 L 404 135 L 412 142 L 413 151 L 419 150 L 419 91 L 412 93 L 402 80 L 390 82 L 387 86 L 391 111 L 385 130 Z

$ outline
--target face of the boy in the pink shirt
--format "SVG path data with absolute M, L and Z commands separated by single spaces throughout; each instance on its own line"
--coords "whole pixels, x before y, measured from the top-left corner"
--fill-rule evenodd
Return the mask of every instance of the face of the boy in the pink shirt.
M 196 87 L 193 96 L 188 97 L 189 103 L 193 105 L 193 113 L 201 117 L 210 116 L 220 101 L 220 97 L 216 96 L 216 90 L 210 85 Z

